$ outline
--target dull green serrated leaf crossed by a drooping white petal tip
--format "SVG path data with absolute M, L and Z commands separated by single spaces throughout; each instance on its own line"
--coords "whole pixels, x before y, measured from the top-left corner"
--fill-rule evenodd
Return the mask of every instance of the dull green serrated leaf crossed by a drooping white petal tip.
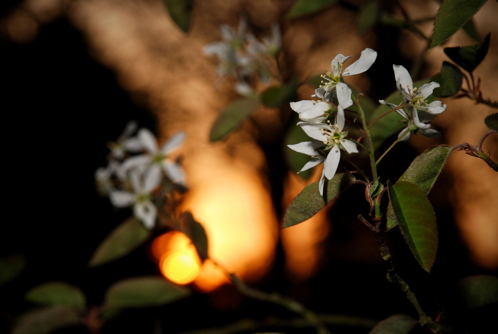
M 285 211 L 283 228 L 302 223 L 317 214 L 318 211 L 323 209 L 331 200 L 337 198 L 344 190 L 349 188 L 354 180 L 355 178 L 350 174 L 335 174 L 331 180 L 325 181 L 323 196 L 320 195 L 318 181 L 307 185 L 296 198 L 292 200 L 292 203 L 290 203 Z

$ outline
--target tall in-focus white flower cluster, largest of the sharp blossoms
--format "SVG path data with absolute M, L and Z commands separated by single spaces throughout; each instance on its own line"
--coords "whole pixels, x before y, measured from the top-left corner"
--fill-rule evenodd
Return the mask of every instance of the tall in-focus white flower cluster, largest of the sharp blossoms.
M 302 142 L 296 145 L 288 145 L 289 148 L 311 156 L 309 161 L 299 172 L 324 163 L 319 189 L 323 195 L 325 177 L 331 179 L 336 173 L 341 150 L 348 153 L 358 153 L 356 143 L 346 139 L 347 132 L 343 132 L 346 122 L 344 109 L 353 105 L 352 90 L 343 82 L 343 76 L 363 73 L 372 66 L 377 52 L 370 48 L 362 51 L 360 58 L 345 70 L 342 69 L 344 62 L 351 56 L 345 57 L 338 54 L 332 61 L 332 71 L 327 71 L 322 77 L 323 85 L 315 90 L 312 97 L 319 100 L 303 100 L 291 102 L 290 107 L 299 114 L 301 122 L 297 123 L 314 142 Z M 335 122 L 331 117 L 336 114 Z

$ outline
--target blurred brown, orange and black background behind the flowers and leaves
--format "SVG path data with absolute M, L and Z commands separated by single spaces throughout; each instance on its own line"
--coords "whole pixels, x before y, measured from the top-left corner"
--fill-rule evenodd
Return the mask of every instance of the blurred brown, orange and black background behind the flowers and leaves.
M 209 142 L 211 125 L 236 94 L 229 80 L 217 83 L 216 62 L 202 47 L 220 39 L 221 24 L 237 27 L 243 14 L 255 32 L 279 23 L 285 71 L 302 80 L 329 70 L 338 53 L 356 59 L 371 47 L 378 52 L 372 68 L 347 82 L 374 101 L 395 90 L 393 63 L 408 68 L 418 61 L 419 78 L 430 78 L 447 60 L 442 47 L 420 59 L 424 40 L 412 32 L 378 25 L 358 34 L 358 9 L 365 4 L 360 0 L 338 1 L 296 19 L 286 18 L 292 0 L 194 2 L 185 33 L 161 0 L 2 1 L 2 137 L 8 164 L 4 186 L 9 191 L 0 256 L 23 254 L 26 268 L 0 288 L 1 331 L 32 307 L 23 296 L 37 284 L 69 282 L 83 289 L 89 304 L 99 305 L 117 279 L 161 274 L 152 240 L 123 259 L 87 267 L 95 248 L 130 214 L 100 197 L 94 183 L 96 168 L 106 163 L 106 143 L 115 140 L 129 120 L 151 129 L 160 143 L 178 130 L 187 132 L 177 153 L 189 187 L 182 208 L 205 227 L 211 256 L 252 286 L 292 296 L 317 312 L 373 319 L 413 315 L 410 303 L 385 280 L 373 237 L 356 219 L 369 212 L 366 202 L 356 204 L 364 196 L 362 186 L 353 186 L 306 223 L 279 229 L 294 196 L 321 175 L 317 169 L 304 180 L 286 166 L 282 136 L 290 108 L 262 107 L 225 140 Z M 432 0 L 401 3 L 414 19 L 434 16 L 439 6 Z M 394 1 L 383 6 L 401 15 Z M 488 1 L 474 17 L 481 38 L 492 33 L 488 55 L 475 72 L 483 94 L 492 100 L 498 99 L 497 15 L 498 3 Z M 421 30 L 430 35 L 432 23 Z M 459 31 L 444 46 L 473 43 Z M 313 89 L 301 86 L 294 101 L 308 99 Z M 379 173 L 386 175 L 383 181 L 387 175 L 397 179 L 432 145 L 477 144 L 487 131 L 483 119 L 496 111 L 469 99 L 442 100 L 448 109 L 432 124 L 443 137 L 415 137 L 397 145 L 379 165 Z M 497 161 L 497 136 L 491 136 L 483 150 L 491 151 Z M 398 229 L 386 237 L 395 249 L 400 276 L 435 314 L 433 297 L 449 284 L 467 275 L 497 273 L 498 176 L 479 159 L 455 152 L 429 199 L 439 231 L 431 275 L 420 270 Z M 120 321 L 109 322 L 103 331 L 180 333 L 241 318 L 287 315 L 276 306 L 243 298 L 226 282 L 206 263 L 193 282 L 198 294 L 169 306 L 124 311 Z M 476 317 L 488 320 L 476 326 L 490 325 L 491 314 L 490 308 L 481 310 Z M 57 333 L 85 331 L 68 328 Z

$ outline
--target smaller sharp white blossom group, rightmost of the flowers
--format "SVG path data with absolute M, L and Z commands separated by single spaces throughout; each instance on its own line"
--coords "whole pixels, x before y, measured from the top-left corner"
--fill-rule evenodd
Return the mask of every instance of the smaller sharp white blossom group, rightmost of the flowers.
M 416 135 L 421 133 L 431 138 L 440 137 L 441 133 L 430 129 L 431 126 L 426 124 L 446 110 L 446 104 L 443 106 L 441 101 L 434 101 L 427 104 L 427 97 L 432 94 L 434 88 L 439 87 L 439 84 L 433 81 L 420 86 L 420 88 L 413 87 L 413 81 L 406 68 L 401 65 L 392 65 L 392 68 L 394 69 L 396 87 L 403 95 L 403 101 L 400 106 L 406 105 L 406 108 L 396 110 L 405 119 L 405 123 L 407 124 L 407 127 L 398 135 L 398 138 L 401 138 L 400 141 L 408 141 L 412 133 Z M 384 100 L 379 100 L 378 102 L 392 109 L 398 107 Z

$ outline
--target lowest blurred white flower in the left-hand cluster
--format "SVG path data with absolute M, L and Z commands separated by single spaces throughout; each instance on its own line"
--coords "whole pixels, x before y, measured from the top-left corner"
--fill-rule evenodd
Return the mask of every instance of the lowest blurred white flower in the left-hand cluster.
M 111 203 L 116 207 L 133 205 L 135 217 L 140 219 L 146 228 L 151 229 L 154 227 L 157 217 L 157 208 L 151 201 L 151 191 L 157 187 L 160 179 L 157 174 L 150 172 L 150 170 L 144 175 L 140 175 L 138 169 L 130 171 L 129 177 L 133 193 L 122 190 L 111 191 L 109 194 Z

